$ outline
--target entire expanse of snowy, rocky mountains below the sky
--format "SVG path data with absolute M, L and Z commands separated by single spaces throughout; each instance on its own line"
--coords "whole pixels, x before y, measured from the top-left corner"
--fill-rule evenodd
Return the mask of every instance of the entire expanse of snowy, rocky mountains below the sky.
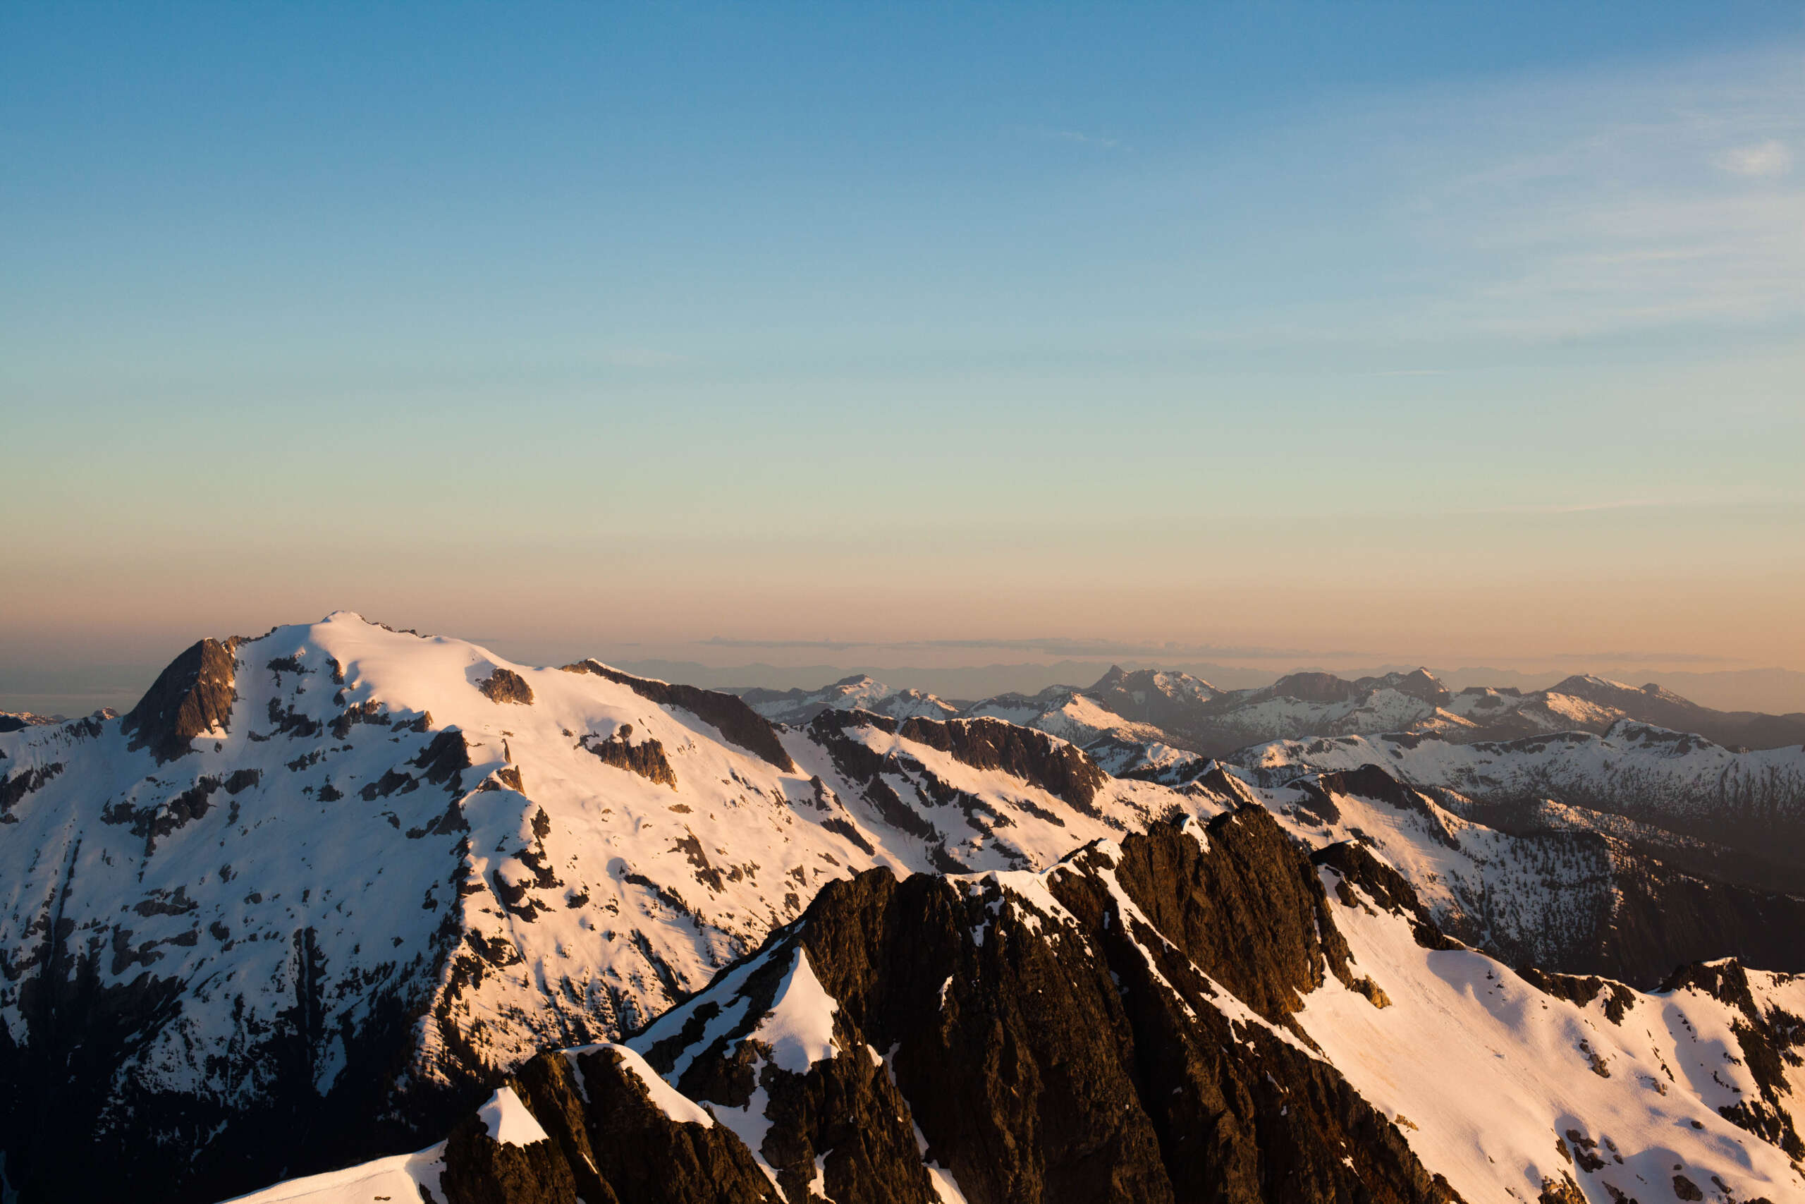
M 0 722 L 0 1191 L 1800 1202 L 1801 742 L 1594 677 L 204 639 Z

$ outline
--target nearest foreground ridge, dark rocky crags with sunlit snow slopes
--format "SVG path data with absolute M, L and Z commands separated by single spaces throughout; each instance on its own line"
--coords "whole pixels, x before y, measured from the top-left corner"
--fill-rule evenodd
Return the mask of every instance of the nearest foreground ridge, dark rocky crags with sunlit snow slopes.
M 1805 1195 L 1801 1014 L 1805 980 L 1735 962 L 1516 975 L 1247 805 L 1041 874 L 830 883 L 439 1146 L 247 1204 L 1774 1204 Z

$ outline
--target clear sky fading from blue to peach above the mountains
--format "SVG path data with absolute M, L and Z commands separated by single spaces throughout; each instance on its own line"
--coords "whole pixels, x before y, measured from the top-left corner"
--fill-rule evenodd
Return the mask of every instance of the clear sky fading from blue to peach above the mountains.
M 0 708 L 1805 670 L 1801 383 L 1798 4 L 0 4 Z

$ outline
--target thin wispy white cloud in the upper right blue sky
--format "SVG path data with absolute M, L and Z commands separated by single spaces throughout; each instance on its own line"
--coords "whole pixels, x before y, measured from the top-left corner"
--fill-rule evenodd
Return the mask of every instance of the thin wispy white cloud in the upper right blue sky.
M 1314 264 L 1330 287 L 1258 280 L 1265 303 L 1191 338 L 1377 348 L 1805 321 L 1800 67 L 1760 51 L 1439 83 L 1271 130 L 1236 177 L 1213 162 L 1186 186 L 1213 204 L 1253 179 L 1278 213 L 1300 188 L 1334 191 L 1336 238 Z M 1347 280 L 1366 283 L 1359 303 L 1338 296 Z

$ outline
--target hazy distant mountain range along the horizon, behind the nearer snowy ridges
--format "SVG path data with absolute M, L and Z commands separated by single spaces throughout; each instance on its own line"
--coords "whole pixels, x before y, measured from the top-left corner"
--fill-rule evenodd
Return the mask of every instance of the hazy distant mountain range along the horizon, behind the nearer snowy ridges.
M 1081 746 L 1112 774 L 1182 782 L 1211 758 L 1280 783 L 1365 764 L 1464 796 L 1523 832 L 1608 827 L 1662 861 L 1805 892 L 1805 715 L 1713 711 L 1661 686 L 1569 677 L 1531 693 L 1451 691 L 1426 670 L 1354 681 L 1292 673 L 1217 690 L 1112 668 L 1090 688 L 955 702 L 848 677 L 816 691 L 740 691 L 778 722 L 823 709 L 1004 718 Z M 1478 810 L 1473 810 L 1478 814 Z

